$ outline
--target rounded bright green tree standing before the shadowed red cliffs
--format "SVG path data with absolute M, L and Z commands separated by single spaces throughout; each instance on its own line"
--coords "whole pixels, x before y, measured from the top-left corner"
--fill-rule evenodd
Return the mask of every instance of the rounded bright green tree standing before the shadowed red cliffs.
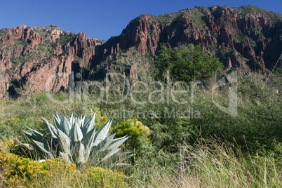
M 180 81 L 205 81 L 223 68 L 218 58 L 207 55 L 201 46 L 194 46 L 192 43 L 175 48 L 167 48 L 165 44 L 161 44 L 155 63 L 160 75 L 169 70 Z

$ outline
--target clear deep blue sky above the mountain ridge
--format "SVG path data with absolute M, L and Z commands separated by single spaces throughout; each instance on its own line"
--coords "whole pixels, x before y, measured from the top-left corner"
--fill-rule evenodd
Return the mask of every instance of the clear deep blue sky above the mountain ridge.
M 28 27 L 56 25 L 67 32 L 84 32 L 87 36 L 107 40 L 139 15 L 175 13 L 194 6 L 258 6 L 281 13 L 281 0 L 0 0 L 0 29 L 18 25 Z

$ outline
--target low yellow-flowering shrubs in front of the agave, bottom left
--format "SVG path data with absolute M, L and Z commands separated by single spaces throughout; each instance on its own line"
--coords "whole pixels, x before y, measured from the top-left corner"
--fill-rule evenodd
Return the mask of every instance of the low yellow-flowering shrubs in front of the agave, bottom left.
M 128 187 L 126 176 L 112 170 L 66 164 L 61 159 L 32 161 L 11 154 L 13 141 L 0 145 L 0 171 L 6 187 Z

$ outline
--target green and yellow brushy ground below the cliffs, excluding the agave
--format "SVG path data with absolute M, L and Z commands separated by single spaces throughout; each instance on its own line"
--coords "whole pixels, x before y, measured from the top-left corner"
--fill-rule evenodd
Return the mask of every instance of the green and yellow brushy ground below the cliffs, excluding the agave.
M 154 76 L 148 73 L 147 83 L 150 80 Z M 175 83 L 173 79 L 170 81 Z M 130 95 L 133 98 L 109 104 L 122 99 L 121 85 L 115 79 L 107 83 L 109 95 L 108 98 L 104 95 L 101 102 L 97 102 L 100 90 L 95 88 L 87 99 L 79 100 L 76 96 L 65 104 L 60 101 L 69 98 L 69 93 L 53 94 L 58 103 L 51 102 L 45 93 L 1 100 L 1 181 L 12 187 L 20 184 L 27 187 L 31 184 L 36 187 L 279 187 L 282 184 L 281 95 L 275 93 L 275 83 L 265 83 L 261 75 L 244 69 L 239 70 L 237 81 L 238 116 L 235 117 L 222 112 L 213 102 L 228 105 L 228 86 L 220 87 L 212 95 L 211 86 L 201 84 L 194 90 L 194 100 L 186 105 L 179 105 L 171 98 L 169 102 L 159 102 L 161 93 L 139 95 L 133 91 Z M 160 83 L 164 90 L 169 88 L 168 80 Z M 158 84 L 152 84 L 149 90 L 160 90 Z M 182 89 L 181 84 L 177 86 L 177 90 Z M 138 90 L 142 90 L 141 85 Z M 192 93 L 177 93 L 175 99 L 184 101 L 191 96 Z M 87 164 L 84 170 L 73 167 L 76 170 L 69 171 L 60 161 L 43 163 L 46 168 L 36 162 L 22 163 L 30 160 L 25 158 L 31 155 L 15 146 L 27 142 L 22 130 L 28 126 L 44 133 L 41 116 L 52 121 L 52 113 L 71 114 L 72 109 L 89 116 L 99 111 L 98 126 L 113 119 L 112 133 L 131 135 L 134 139 L 128 140 L 123 149 L 135 151 L 129 161 L 133 167 L 119 175 L 114 171 L 94 170 Z M 150 133 L 136 132 L 141 131 L 140 123 L 134 119 L 149 127 Z M 126 132 L 131 126 L 133 129 Z M 32 159 L 38 158 L 32 154 Z M 62 165 L 61 170 L 52 164 Z M 31 165 L 38 166 L 34 168 L 38 170 L 29 172 Z M 42 168 L 54 175 L 55 180 L 54 176 L 43 175 Z M 21 169 L 27 169 L 27 173 L 21 175 Z

